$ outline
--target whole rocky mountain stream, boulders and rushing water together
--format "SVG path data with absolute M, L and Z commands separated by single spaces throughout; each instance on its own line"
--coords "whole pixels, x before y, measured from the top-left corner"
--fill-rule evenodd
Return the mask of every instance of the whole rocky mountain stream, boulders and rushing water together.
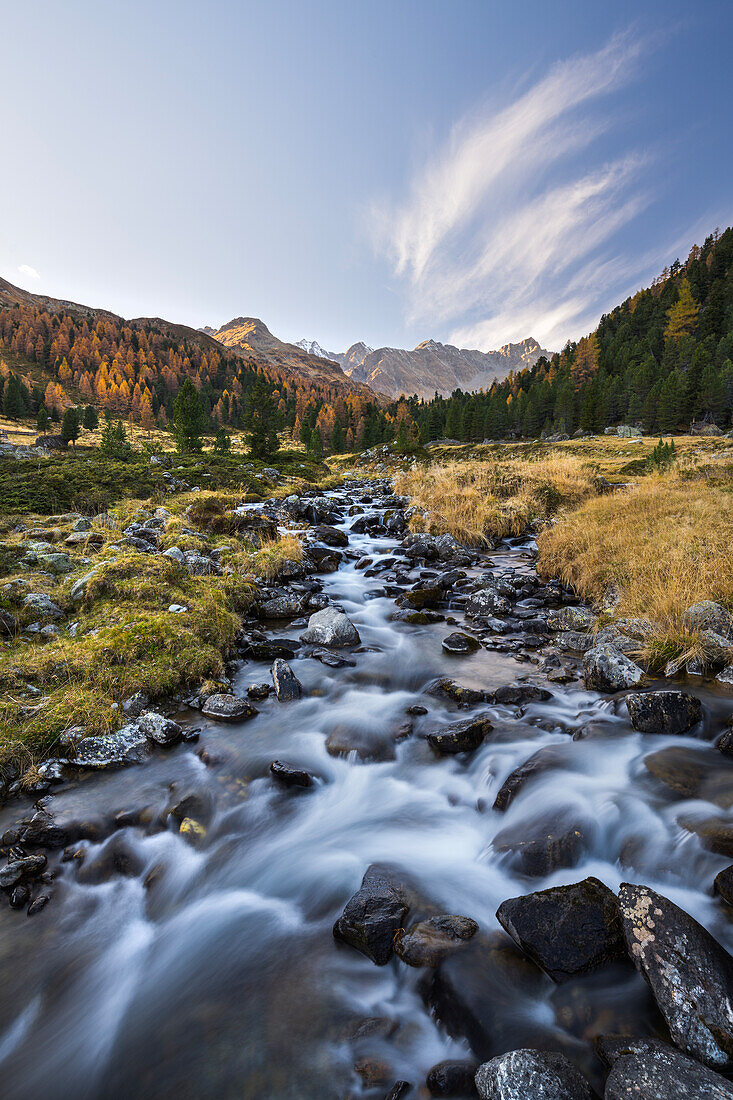
M 403 508 L 266 504 L 229 682 L 4 807 L 8 1097 L 733 1097 L 725 685 Z

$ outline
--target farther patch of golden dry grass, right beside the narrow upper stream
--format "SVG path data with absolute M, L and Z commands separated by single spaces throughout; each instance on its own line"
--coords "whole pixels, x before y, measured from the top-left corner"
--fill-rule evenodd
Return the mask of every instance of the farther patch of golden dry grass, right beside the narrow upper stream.
M 418 513 L 413 528 L 448 532 L 470 546 L 521 535 L 534 519 L 577 505 L 594 492 L 588 463 L 562 454 L 415 466 L 395 476 L 395 491 Z

